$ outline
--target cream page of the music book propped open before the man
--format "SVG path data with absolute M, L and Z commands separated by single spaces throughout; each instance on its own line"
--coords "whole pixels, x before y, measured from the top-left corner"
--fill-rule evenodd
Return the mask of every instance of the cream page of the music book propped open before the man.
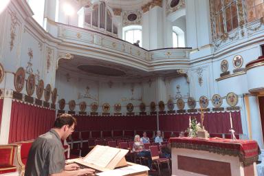
M 83 161 L 105 168 L 119 152 L 120 148 L 98 145 L 87 155 L 87 157 L 85 157 Z

